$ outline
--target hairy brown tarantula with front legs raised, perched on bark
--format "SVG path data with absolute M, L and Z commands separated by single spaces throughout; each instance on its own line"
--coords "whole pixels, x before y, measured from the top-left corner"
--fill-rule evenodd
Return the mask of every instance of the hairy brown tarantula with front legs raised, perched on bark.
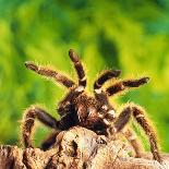
M 104 71 L 94 83 L 95 97 L 87 96 L 85 92 L 86 76 L 79 56 L 72 50 L 69 50 L 70 59 L 72 60 L 75 71 L 79 76 L 79 83 L 73 82 L 65 75 L 34 62 L 25 62 L 27 69 L 49 79 L 57 81 L 69 89 L 67 96 L 58 105 L 58 112 L 61 117 L 56 120 L 48 112 L 37 106 L 31 106 L 25 110 L 22 124 L 22 140 L 25 147 L 33 147 L 32 135 L 35 119 L 56 130 L 41 144 L 43 149 L 48 149 L 56 142 L 56 136 L 60 131 L 69 130 L 72 126 L 81 125 L 93 130 L 97 134 L 113 136 L 117 133 L 123 132 L 123 128 L 133 116 L 135 121 L 143 128 L 149 138 L 150 150 L 155 160 L 161 162 L 159 155 L 156 134 L 153 126 L 145 117 L 145 111 L 137 105 L 126 104 L 120 114 L 116 117 L 116 109 L 110 104 L 109 97 L 131 87 L 140 87 L 148 82 L 149 77 L 138 80 L 121 80 L 116 81 L 120 75 L 120 70 Z M 102 85 L 113 79 L 114 83 L 102 88 Z M 126 136 L 133 146 L 137 157 L 141 156 L 140 146 L 136 138 L 132 135 L 132 131 L 128 129 L 123 134 Z

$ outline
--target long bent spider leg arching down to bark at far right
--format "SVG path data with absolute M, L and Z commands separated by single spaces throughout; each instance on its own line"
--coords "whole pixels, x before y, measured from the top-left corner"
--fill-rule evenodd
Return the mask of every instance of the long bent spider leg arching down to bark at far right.
M 146 119 L 145 112 L 141 107 L 133 104 L 126 106 L 116 120 L 112 131 L 120 132 L 129 122 L 131 116 L 134 117 L 136 122 L 143 128 L 145 134 L 148 136 L 154 159 L 161 162 L 155 131 L 149 124 L 149 121 Z

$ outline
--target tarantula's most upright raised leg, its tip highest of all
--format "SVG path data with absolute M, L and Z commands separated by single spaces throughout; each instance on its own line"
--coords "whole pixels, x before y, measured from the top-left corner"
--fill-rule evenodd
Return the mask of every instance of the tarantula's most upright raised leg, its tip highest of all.
M 85 75 L 83 65 L 79 59 L 79 56 L 74 52 L 73 49 L 69 50 L 69 56 L 70 56 L 72 62 L 74 63 L 75 71 L 79 76 L 79 86 L 81 86 L 84 89 L 86 86 L 86 75 Z

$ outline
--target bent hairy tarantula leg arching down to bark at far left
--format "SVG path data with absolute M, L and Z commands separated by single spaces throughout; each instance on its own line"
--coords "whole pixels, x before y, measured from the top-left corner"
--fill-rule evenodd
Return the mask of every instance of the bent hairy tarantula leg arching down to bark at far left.
M 58 129 L 59 126 L 59 122 L 45 110 L 36 106 L 29 107 L 27 110 L 25 110 L 22 123 L 22 142 L 25 147 L 33 147 L 32 135 L 35 125 L 35 119 L 38 119 L 45 125 L 52 129 Z

